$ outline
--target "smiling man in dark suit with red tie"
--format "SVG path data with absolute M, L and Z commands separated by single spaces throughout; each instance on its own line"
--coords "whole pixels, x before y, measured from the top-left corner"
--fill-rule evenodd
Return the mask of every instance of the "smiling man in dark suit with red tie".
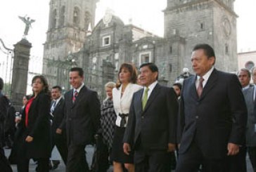
M 94 135 L 100 126 L 101 105 L 96 91 L 84 86 L 84 71 L 70 70 L 72 89 L 65 93 L 65 123 L 68 138 L 67 172 L 89 171 L 84 148 L 94 143 Z

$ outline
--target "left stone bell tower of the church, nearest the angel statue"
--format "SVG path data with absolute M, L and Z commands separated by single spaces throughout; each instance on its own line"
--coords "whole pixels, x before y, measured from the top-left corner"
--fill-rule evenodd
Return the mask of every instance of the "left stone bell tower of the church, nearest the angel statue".
M 74 60 L 70 54 L 82 48 L 89 25 L 94 27 L 97 1 L 50 1 L 43 65 L 43 74 L 50 86 L 67 86 L 68 69 L 71 67 L 70 62 Z

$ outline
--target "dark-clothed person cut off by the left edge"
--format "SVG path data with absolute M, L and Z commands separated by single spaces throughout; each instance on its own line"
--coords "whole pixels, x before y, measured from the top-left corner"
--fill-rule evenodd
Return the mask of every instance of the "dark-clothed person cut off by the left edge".
M 0 78 L 0 166 L 3 171 L 12 171 L 4 154 L 4 121 L 7 116 L 8 99 L 3 95 L 4 81 Z

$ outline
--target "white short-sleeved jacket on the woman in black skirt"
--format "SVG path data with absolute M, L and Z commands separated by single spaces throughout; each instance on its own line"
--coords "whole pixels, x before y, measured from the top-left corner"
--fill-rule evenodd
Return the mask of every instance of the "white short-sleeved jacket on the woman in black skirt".
M 117 126 L 120 126 L 121 117 L 119 114 L 129 114 L 129 108 L 131 106 L 132 102 L 132 95 L 136 91 L 139 91 L 142 86 L 139 86 L 137 84 L 128 84 L 127 87 L 124 89 L 124 93 L 121 98 L 121 91 L 122 91 L 122 85 L 120 88 L 113 88 L 113 105 L 115 109 L 115 114 L 117 114 L 117 119 L 115 121 L 115 124 Z M 124 127 L 127 126 L 128 117 L 125 117 L 126 124 L 124 124 Z

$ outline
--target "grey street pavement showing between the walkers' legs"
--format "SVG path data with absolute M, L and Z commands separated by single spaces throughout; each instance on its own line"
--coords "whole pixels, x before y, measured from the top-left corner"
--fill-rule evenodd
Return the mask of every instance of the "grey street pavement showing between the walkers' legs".
M 86 148 L 86 151 L 87 151 L 87 161 L 90 166 L 91 161 L 92 161 L 92 156 L 94 153 L 94 147 L 91 145 L 88 145 Z M 5 152 L 6 152 L 6 157 L 8 157 L 11 150 L 5 150 Z M 247 171 L 253 172 L 248 155 L 246 156 L 246 162 L 247 162 Z M 36 166 L 37 166 L 37 164 L 35 164 L 34 161 L 30 160 L 30 171 L 35 171 L 34 169 L 36 168 Z M 11 168 L 13 168 L 13 172 L 17 172 L 16 165 L 11 165 Z M 0 171 L 1 171 L 1 169 L 0 169 Z M 63 163 L 63 161 L 60 161 L 60 165 L 58 166 L 58 168 L 53 170 L 53 172 L 65 172 L 65 164 Z M 110 167 L 108 172 L 113 172 L 112 166 Z

